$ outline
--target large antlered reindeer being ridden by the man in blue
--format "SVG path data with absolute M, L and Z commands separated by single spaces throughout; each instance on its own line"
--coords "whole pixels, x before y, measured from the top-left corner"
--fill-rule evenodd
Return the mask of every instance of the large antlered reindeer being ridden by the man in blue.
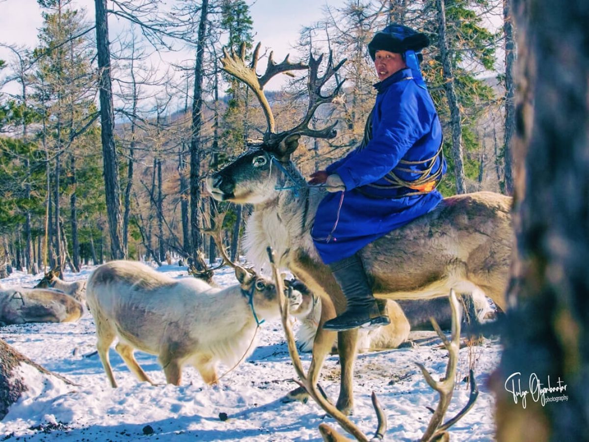
M 320 104 L 333 101 L 341 82 L 329 96 L 323 84 L 342 65 L 333 67 L 332 57 L 322 77 L 317 76 L 322 57 L 310 56 L 309 65 L 292 64 L 288 57 L 280 64 L 268 60 L 266 73 L 256 74 L 259 47 L 252 64 L 246 65 L 245 51 L 224 51 L 223 69 L 246 83 L 256 94 L 267 131 L 261 144 L 207 180 L 211 195 L 222 201 L 254 204 L 246 226 L 247 258 L 258 268 L 268 268 L 266 246 L 276 251 L 279 268 L 290 271 L 316 295 L 331 299 L 337 312 L 345 310 L 345 297 L 316 252 L 310 232 L 315 212 L 325 190 L 310 187 L 292 163 L 291 156 L 302 135 L 315 138 L 335 136 L 335 124 L 321 130 L 308 127 Z M 263 87 L 273 75 L 293 69 L 309 69 L 309 107 L 296 127 L 280 133 Z M 284 183 L 288 182 L 285 186 Z M 428 299 L 448 293 L 477 289 L 505 309 L 504 292 L 509 278 L 514 235 L 511 227 L 511 197 L 491 192 L 461 194 L 444 199 L 436 209 L 393 230 L 360 250 L 365 271 L 376 298 Z M 317 382 L 335 333 L 322 329 L 333 312 L 323 304 L 319 331 L 313 343 L 309 378 Z M 353 407 L 352 375 L 358 330 L 339 332 L 337 348 L 341 358 L 340 394 L 337 408 L 349 413 Z M 300 397 L 300 389 L 292 392 Z

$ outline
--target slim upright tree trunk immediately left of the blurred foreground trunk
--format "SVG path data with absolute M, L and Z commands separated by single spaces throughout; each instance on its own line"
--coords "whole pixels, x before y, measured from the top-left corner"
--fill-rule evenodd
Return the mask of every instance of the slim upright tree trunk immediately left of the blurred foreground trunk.
M 505 193 L 514 192 L 511 138 L 515 131 L 515 35 L 511 0 L 503 0 L 503 32 L 505 34 L 505 134 L 503 156 L 505 164 Z

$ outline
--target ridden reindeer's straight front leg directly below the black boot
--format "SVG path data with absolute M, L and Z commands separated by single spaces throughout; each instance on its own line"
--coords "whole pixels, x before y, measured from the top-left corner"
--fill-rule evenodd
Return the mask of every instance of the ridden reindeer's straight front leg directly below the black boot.
M 337 351 L 341 367 L 340 390 L 337 398 L 337 410 L 345 415 L 352 414 L 354 408 L 354 391 L 352 378 L 354 375 L 354 362 L 356 361 L 356 344 L 358 344 L 358 328 L 338 332 Z

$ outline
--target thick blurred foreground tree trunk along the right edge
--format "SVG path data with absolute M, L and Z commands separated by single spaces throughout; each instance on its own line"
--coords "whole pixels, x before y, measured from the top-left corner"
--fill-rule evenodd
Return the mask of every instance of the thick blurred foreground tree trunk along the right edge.
M 589 428 L 589 4 L 513 5 L 522 72 L 513 142 L 518 256 L 494 375 L 497 440 L 581 441 Z M 541 394 L 534 377 L 557 390 Z M 510 391 L 528 391 L 525 409 Z

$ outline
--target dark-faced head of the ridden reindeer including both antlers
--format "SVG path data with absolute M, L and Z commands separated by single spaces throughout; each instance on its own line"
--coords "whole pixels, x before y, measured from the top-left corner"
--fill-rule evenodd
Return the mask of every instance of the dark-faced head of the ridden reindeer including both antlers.
M 319 105 L 331 103 L 339 93 L 343 81 L 337 81 L 333 93 L 327 96 L 321 94 L 322 86 L 331 78 L 346 60 L 341 61 L 336 67 L 333 66 L 332 54 L 329 54 L 327 68 L 322 77 L 319 77 L 319 66 L 323 55 L 314 58 L 309 55 L 309 64 L 292 63 L 288 55 L 280 64 L 272 59 L 272 52 L 268 58 L 266 73 L 261 77 L 256 73 L 259 60 L 260 44 L 257 44 L 252 57 L 252 64 L 249 67 L 245 62 L 245 45 L 241 45 L 239 54 L 231 50 L 223 50 L 221 64 L 223 70 L 228 72 L 247 84 L 262 105 L 266 116 L 267 130 L 260 144 L 252 144 L 253 150 L 241 155 L 229 166 L 224 167 L 207 179 L 207 187 L 211 195 L 221 201 L 232 201 L 235 203 L 261 203 L 272 199 L 276 194 L 276 182 L 280 179 L 285 165 L 290 163 L 290 156 L 299 146 L 299 138 L 302 135 L 313 138 L 333 138 L 336 136 L 335 126 L 325 127 L 320 130 L 310 129 L 309 122 L 315 114 Z M 276 132 L 276 124 L 270 104 L 264 95 L 264 85 L 279 72 L 290 70 L 309 70 L 307 91 L 309 93 L 309 106 L 307 114 L 297 126 L 289 130 Z

